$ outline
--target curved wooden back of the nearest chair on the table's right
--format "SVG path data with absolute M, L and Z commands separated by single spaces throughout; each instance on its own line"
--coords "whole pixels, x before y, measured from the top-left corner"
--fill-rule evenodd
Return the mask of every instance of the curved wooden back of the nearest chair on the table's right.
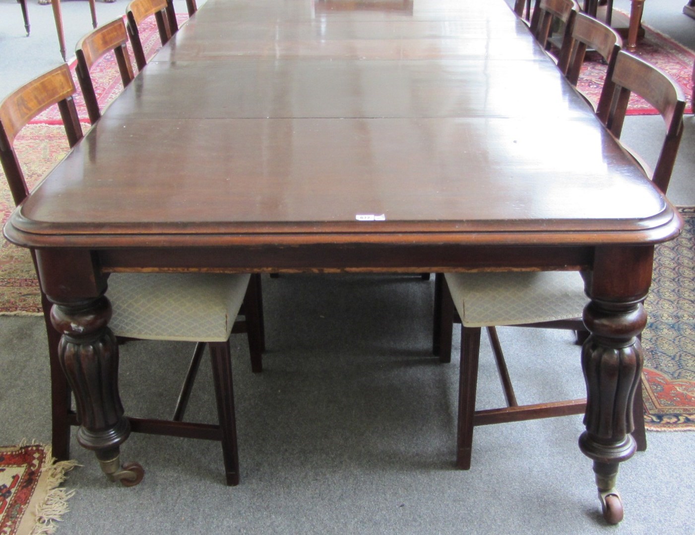
M 666 135 L 653 170 L 634 151 L 629 148 L 628 151 L 645 175 L 665 194 L 683 133 L 685 94 L 673 78 L 650 63 L 621 50 L 616 54 L 615 62 L 609 65 L 596 112 L 598 118 L 617 138 L 621 136 L 632 93 L 653 105 L 664 119 Z

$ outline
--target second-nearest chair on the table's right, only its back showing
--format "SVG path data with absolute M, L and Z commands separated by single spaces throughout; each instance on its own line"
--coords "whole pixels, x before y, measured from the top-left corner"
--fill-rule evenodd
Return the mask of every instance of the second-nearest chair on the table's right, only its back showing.
M 621 46 L 623 46 L 623 40 L 613 28 L 585 13 L 578 13 L 575 15 L 569 39 L 563 43 L 560 50 L 557 67 L 569 83 L 576 87 L 587 49 L 595 51 L 603 58 L 606 65 L 611 65 Z M 582 96 L 587 103 L 591 104 L 587 96 L 583 94 Z

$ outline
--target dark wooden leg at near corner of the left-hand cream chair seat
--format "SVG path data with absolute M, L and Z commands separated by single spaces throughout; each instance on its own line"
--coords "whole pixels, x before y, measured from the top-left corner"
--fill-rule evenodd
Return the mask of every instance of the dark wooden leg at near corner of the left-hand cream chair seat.
M 234 384 L 231 375 L 229 341 L 208 343 L 215 382 L 218 417 L 222 431 L 222 457 L 227 484 L 239 484 L 239 455 L 236 445 L 236 416 L 234 414 Z

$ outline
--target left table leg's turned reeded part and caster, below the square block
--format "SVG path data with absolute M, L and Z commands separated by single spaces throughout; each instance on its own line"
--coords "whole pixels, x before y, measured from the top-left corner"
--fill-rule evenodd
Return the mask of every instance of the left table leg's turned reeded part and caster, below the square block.
M 70 305 L 55 304 L 51 321 L 63 334 L 60 360 L 75 396 L 81 426 L 79 443 L 93 450 L 112 481 L 133 486 L 142 480 L 139 464 L 120 466 L 120 444 L 130 434 L 118 395 L 118 345 L 108 328 L 111 303 L 104 296 Z

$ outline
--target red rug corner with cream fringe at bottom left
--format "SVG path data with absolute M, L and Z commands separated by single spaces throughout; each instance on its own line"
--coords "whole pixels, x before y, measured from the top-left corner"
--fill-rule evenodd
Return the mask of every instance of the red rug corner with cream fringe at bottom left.
M 0 447 L 0 534 L 54 533 L 74 494 L 58 485 L 74 466 L 40 444 Z

